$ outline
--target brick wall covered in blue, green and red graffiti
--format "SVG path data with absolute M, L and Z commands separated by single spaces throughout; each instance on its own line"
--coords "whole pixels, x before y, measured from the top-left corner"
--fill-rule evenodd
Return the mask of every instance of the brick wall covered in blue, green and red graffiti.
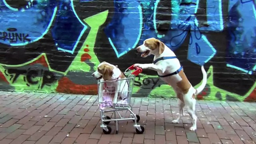
M 0 89 L 97 94 L 102 61 L 124 71 L 151 63 L 146 38 L 176 54 L 204 100 L 256 100 L 254 0 L 0 0 Z M 134 96 L 173 98 L 154 71 L 135 78 Z

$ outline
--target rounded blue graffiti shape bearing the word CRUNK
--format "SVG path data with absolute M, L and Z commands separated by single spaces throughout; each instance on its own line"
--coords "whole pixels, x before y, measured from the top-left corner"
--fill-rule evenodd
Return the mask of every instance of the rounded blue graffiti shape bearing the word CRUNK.
M 24 46 L 40 40 L 49 30 L 57 12 L 54 0 L 27 2 L 24 7 L 11 6 L 7 2 L 0 0 L 0 43 L 11 46 Z

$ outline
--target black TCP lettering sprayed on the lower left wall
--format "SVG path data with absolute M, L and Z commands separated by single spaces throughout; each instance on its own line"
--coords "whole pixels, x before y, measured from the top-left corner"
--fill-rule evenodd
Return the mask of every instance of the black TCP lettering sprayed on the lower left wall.
M 10 81 L 13 83 L 17 80 L 17 78 L 20 75 L 26 75 L 24 77 L 24 81 L 28 82 L 29 84 L 38 84 L 38 82 L 42 79 L 42 85 L 41 88 L 44 87 L 46 84 L 51 84 L 54 81 L 56 81 L 56 77 L 53 72 L 50 71 L 43 71 L 38 69 L 28 69 L 28 70 L 22 70 L 22 69 L 7 69 L 4 72 L 7 76 L 10 76 Z M 9 74 L 7 74 L 9 73 Z M 40 80 L 35 79 L 36 77 L 43 77 L 40 78 Z M 27 84 L 28 85 L 28 84 Z M 29 86 L 29 85 L 28 85 Z

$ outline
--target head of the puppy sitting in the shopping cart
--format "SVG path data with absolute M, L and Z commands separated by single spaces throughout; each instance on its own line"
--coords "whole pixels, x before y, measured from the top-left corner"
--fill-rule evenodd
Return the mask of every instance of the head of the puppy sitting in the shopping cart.
M 107 62 L 102 62 L 98 66 L 97 71 L 95 71 L 92 75 L 98 80 L 98 79 L 104 79 L 104 81 L 107 81 L 111 79 L 113 75 L 113 66 L 111 66 Z

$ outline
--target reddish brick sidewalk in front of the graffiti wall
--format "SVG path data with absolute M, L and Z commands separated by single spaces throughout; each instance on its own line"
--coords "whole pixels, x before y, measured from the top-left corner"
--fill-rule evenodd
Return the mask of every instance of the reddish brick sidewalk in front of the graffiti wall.
M 0 144 L 255 144 L 256 103 L 198 101 L 197 131 L 191 120 L 172 124 L 176 101 L 132 100 L 144 134 L 119 122 L 119 134 L 102 134 L 96 96 L 0 92 Z M 109 124 L 112 133 L 115 123 Z

